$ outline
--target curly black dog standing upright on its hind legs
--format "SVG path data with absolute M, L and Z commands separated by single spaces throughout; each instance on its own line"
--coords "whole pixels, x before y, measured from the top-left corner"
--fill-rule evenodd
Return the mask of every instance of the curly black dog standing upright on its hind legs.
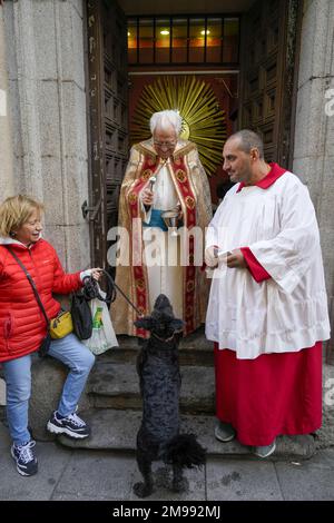
M 137 372 L 143 397 L 143 420 L 137 434 L 137 463 L 144 482 L 134 485 L 139 497 L 153 493 L 151 463 L 163 460 L 173 466 L 173 490 L 187 487 L 184 468 L 205 464 L 206 451 L 194 434 L 179 434 L 178 366 L 179 334 L 184 323 L 174 316 L 169 299 L 160 294 L 151 316 L 135 325 L 150 332 L 141 345 Z

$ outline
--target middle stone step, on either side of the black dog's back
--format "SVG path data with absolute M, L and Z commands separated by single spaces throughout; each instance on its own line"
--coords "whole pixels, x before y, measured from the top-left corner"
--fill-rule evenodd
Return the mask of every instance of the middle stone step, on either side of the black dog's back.
M 215 375 L 213 367 L 180 366 L 180 412 L 214 413 Z M 134 364 L 98 361 L 87 384 L 90 403 L 97 408 L 141 408 L 139 378 Z

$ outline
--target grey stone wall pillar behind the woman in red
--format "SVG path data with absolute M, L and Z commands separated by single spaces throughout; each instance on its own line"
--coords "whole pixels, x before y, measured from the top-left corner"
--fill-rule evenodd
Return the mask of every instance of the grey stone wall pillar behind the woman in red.
M 82 4 L 20 0 L 0 8 L 12 126 L 7 164 L 14 178 L 4 195 L 22 191 L 46 204 L 45 237 L 68 270 L 90 265 L 89 227 L 81 215 L 88 199 Z M 1 169 L 0 188 L 8 172 Z

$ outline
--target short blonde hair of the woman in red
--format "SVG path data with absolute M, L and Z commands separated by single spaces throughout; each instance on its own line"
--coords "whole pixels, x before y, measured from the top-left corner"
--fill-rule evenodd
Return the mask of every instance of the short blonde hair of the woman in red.
M 45 206 L 29 196 L 18 195 L 7 198 L 0 205 L 0 236 L 8 237 L 19 229 L 33 210 L 45 210 Z

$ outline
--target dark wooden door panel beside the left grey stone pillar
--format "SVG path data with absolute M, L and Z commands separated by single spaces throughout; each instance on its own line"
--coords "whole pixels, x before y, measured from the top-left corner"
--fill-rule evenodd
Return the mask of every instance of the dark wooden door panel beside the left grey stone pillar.
M 107 264 L 107 235 L 117 225 L 118 195 L 128 157 L 127 24 L 114 0 L 89 0 L 88 75 L 90 201 L 94 264 Z

